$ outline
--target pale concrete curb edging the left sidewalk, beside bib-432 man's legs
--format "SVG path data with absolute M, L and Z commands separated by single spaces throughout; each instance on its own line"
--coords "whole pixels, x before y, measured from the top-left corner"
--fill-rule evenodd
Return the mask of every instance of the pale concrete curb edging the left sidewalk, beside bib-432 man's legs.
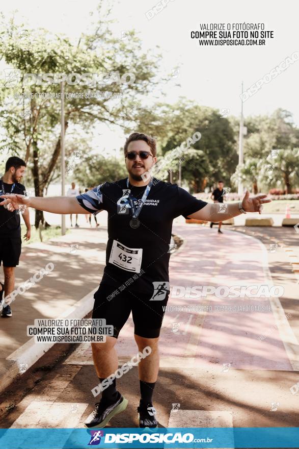
M 58 319 L 84 318 L 93 308 L 93 295 L 97 289 L 98 287 L 90 291 L 72 307 L 69 307 L 61 316 L 58 317 Z M 4 391 L 5 388 L 10 385 L 21 373 L 21 364 L 25 364 L 26 369 L 30 368 L 55 344 L 57 343 L 35 343 L 33 337 L 10 354 L 4 361 L 4 370 L 1 369 L 0 371 L 0 392 Z

